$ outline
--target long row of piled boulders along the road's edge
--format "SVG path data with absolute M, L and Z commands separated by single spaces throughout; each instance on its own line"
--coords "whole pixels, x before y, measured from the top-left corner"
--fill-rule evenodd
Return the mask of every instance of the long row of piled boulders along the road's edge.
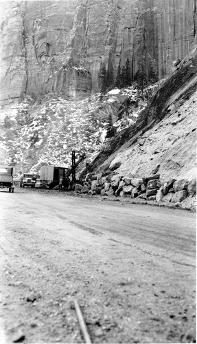
M 159 174 L 142 178 L 127 178 L 105 172 L 87 173 L 84 182 L 76 184 L 76 193 L 89 195 L 130 197 L 135 200 L 165 202 L 181 208 L 192 208 L 196 200 L 196 179 L 176 180 L 169 178 L 161 181 Z

